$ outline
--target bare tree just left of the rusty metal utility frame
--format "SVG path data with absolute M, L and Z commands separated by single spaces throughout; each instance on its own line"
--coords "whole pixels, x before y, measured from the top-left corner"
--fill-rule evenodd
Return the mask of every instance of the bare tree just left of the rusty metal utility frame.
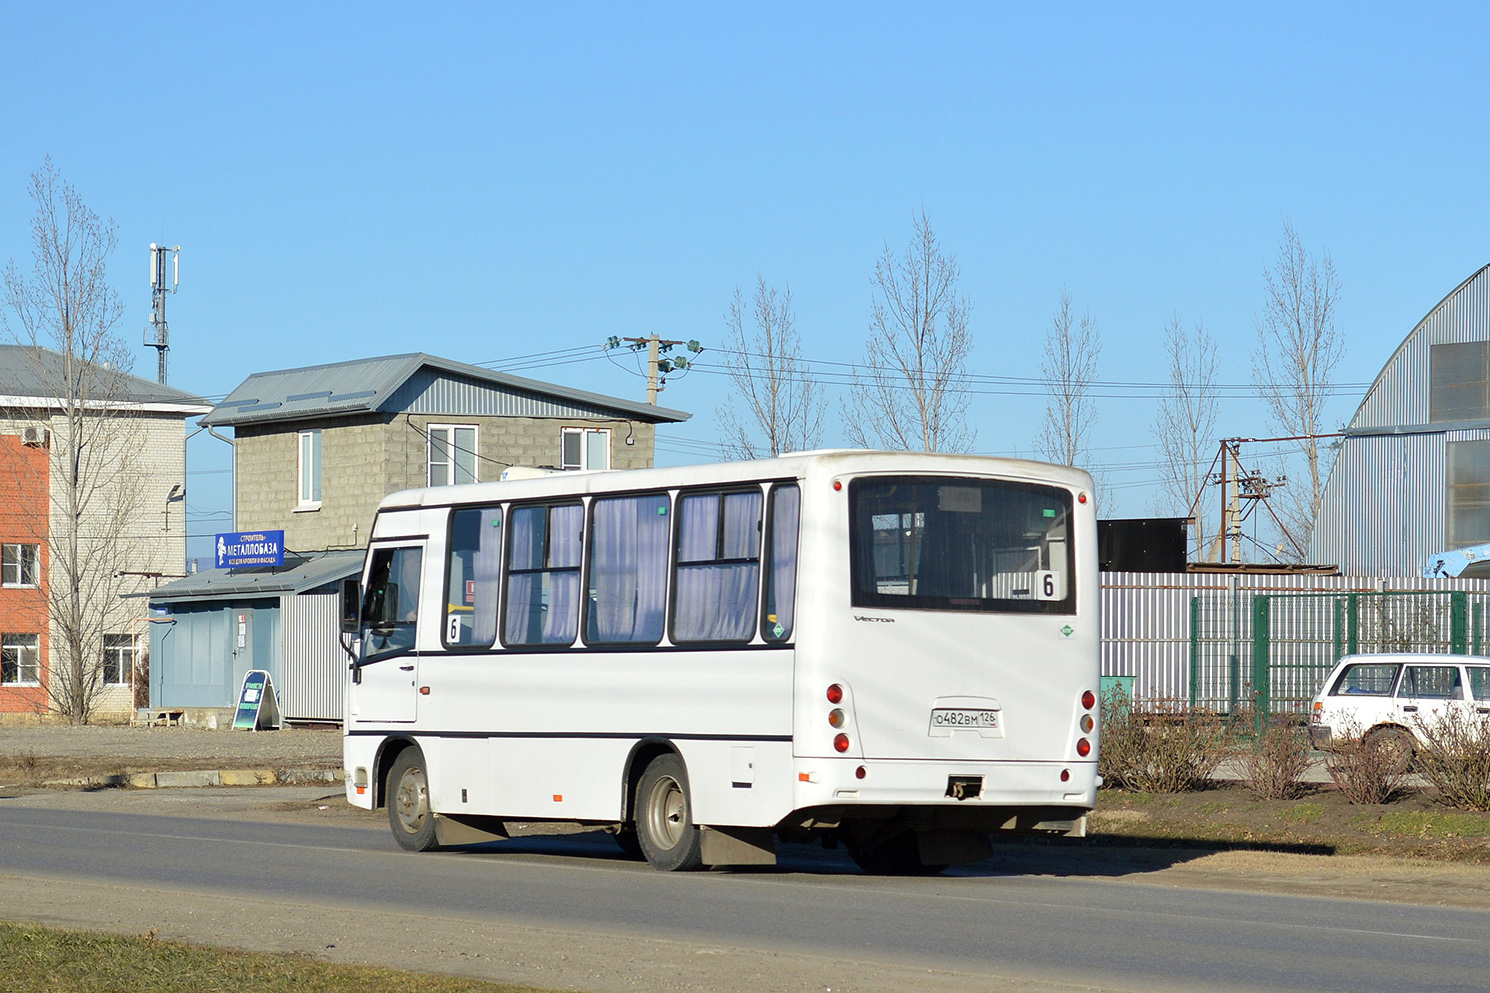
M 1180 315 L 1164 325 L 1170 382 L 1159 398 L 1153 437 L 1159 444 L 1159 510 L 1188 513 L 1196 504 L 1216 450 L 1216 338 Z M 1196 510 L 1196 523 L 1201 510 Z M 1192 529 L 1199 538 L 1198 528 Z

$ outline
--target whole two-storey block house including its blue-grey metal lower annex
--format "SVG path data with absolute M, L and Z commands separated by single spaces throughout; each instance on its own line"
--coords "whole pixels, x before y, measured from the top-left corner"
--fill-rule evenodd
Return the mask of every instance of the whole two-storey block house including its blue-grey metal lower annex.
M 285 565 L 149 593 L 152 710 L 224 726 L 265 669 L 286 720 L 340 722 L 337 584 L 361 573 L 383 497 L 508 465 L 648 468 L 656 426 L 687 417 L 423 353 L 255 373 L 203 425 L 234 432 L 234 529 L 283 531 Z

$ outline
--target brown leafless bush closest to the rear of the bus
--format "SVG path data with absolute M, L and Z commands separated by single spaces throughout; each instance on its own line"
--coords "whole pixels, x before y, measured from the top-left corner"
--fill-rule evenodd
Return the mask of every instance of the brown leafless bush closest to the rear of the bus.
M 1097 771 L 1109 786 L 1144 793 L 1183 793 L 1205 786 L 1226 754 L 1226 725 L 1179 701 L 1129 704 L 1103 699 Z

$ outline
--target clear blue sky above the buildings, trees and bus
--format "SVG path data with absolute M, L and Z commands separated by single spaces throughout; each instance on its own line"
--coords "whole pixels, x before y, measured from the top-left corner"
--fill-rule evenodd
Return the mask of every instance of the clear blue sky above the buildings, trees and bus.
M 854 358 L 873 261 L 922 206 L 963 265 L 983 374 L 1039 376 L 1065 286 L 1101 327 L 1104 382 L 1161 379 L 1176 312 L 1220 338 L 1222 382 L 1250 382 L 1287 218 L 1334 255 L 1337 377 L 1363 389 L 1490 261 L 1478 4 L 156 10 L 0 9 L 0 259 L 28 259 L 27 177 L 51 155 L 118 222 L 127 340 L 146 246 L 182 245 L 171 383 L 209 397 L 404 350 L 709 344 L 757 273 L 790 282 L 808 358 Z M 153 367 L 142 347 L 136 371 Z M 642 392 L 605 359 L 524 371 Z M 711 458 L 721 388 L 669 386 L 694 419 L 660 461 Z M 1147 513 L 1153 400 L 1103 392 L 1104 510 Z M 1028 455 L 1043 403 L 979 395 L 979 449 Z M 1261 403 L 1226 401 L 1222 432 L 1268 434 Z M 225 446 L 189 458 L 194 534 L 226 529 Z

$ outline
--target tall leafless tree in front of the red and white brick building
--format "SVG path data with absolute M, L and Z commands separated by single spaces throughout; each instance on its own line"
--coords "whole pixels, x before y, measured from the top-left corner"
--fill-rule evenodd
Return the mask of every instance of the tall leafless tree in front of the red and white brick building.
M 31 270 L 4 271 L 6 337 L 31 382 L 9 420 L 48 431 L 46 610 L 52 710 L 86 723 L 103 689 L 103 637 L 128 611 L 130 535 L 142 529 L 140 435 L 127 398 L 131 358 L 115 335 L 124 304 L 107 282 L 116 237 L 48 158 L 33 173 Z

